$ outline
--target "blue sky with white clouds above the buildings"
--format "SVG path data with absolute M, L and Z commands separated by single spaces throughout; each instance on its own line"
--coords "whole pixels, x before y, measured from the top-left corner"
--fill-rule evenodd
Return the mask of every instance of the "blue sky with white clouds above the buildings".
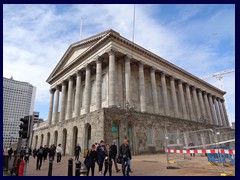
M 37 87 L 34 111 L 47 119 L 46 82 L 72 44 L 113 29 L 197 77 L 235 69 L 234 4 L 3 5 L 3 76 Z M 235 73 L 222 76 L 235 122 Z M 205 81 L 220 88 L 216 78 Z

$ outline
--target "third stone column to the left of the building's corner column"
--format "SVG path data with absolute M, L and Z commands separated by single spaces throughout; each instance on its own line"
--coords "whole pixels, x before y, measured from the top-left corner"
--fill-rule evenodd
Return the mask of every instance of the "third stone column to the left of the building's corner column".
M 75 95 L 75 112 L 74 117 L 80 115 L 80 96 L 81 96 L 81 87 L 82 87 L 82 75 L 80 70 L 76 71 L 77 74 L 77 83 L 76 83 L 76 95 Z

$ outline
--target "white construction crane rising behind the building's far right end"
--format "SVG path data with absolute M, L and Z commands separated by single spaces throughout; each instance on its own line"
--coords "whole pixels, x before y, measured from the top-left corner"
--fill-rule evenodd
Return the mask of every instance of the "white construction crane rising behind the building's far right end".
M 205 79 L 209 79 L 209 78 L 212 78 L 212 77 L 215 77 L 217 80 L 218 80 L 218 83 L 219 83 L 219 86 L 220 86 L 220 89 L 222 91 L 224 91 L 223 89 L 223 83 L 222 83 L 222 78 L 224 74 L 228 74 L 228 73 L 232 73 L 232 72 L 235 72 L 235 69 L 229 69 L 229 70 L 225 70 L 225 71 L 220 71 L 220 72 L 217 72 L 217 73 L 214 73 L 214 74 L 210 74 L 210 75 L 207 75 L 207 76 L 203 76 L 201 77 L 202 80 L 205 80 Z M 226 98 L 225 99 L 225 107 L 226 107 L 226 110 L 227 110 L 227 116 L 230 118 L 229 116 L 229 111 L 228 111 L 228 106 L 227 106 L 227 101 L 226 101 Z M 228 119 L 229 119 L 228 118 Z M 231 119 L 231 118 L 230 118 Z

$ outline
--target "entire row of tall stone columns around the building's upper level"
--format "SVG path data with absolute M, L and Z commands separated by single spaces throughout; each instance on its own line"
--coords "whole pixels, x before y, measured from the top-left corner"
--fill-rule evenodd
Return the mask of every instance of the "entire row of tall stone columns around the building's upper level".
M 109 91 L 108 91 L 108 104 L 109 107 L 116 106 L 116 58 L 115 58 L 115 49 L 109 49 Z M 130 56 L 125 56 L 125 94 L 126 101 L 131 101 L 131 62 Z M 102 58 L 97 57 L 95 59 L 96 62 L 96 109 L 100 109 L 102 107 L 101 101 L 101 90 L 102 90 Z M 146 105 L 146 90 L 145 90 L 145 77 L 144 77 L 144 66 L 145 64 L 141 61 L 138 64 L 139 66 L 139 86 L 140 86 L 140 110 L 141 112 L 147 111 Z M 84 113 L 90 112 L 90 104 L 91 104 L 91 68 L 89 65 L 84 67 L 85 69 L 85 91 L 84 91 Z M 151 78 L 151 86 L 152 86 L 152 94 L 153 94 L 153 111 L 156 114 L 159 114 L 159 102 L 158 102 L 158 93 L 157 93 L 157 84 L 156 84 L 156 70 L 151 68 L 150 78 Z M 163 93 L 163 104 L 164 104 L 164 114 L 166 116 L 170 115 L 169 110 L 169 102 L 168 102 L 168 91 L 166 86 L 166 73 L 161 71 L 161 84 L 162 84 L 162 93 Z M 75 104 L 74 104 L 74 117 L 78 117 L 80 115 L 80 92 L 81 92 L 81 71 L 78 70 L 75 72 L 76 76 L 76 96 L 75 96 Z M 168 75 L 170 76 L 170 75 Z M 200 117 L 208 117 L 210 120 L 208 123 L 212 123 L 215 125 L 228 126 L 226 109 L 224 106 L 224 101 L 202 91 L 199 88 L 191 86 L 193 99 L 191 98 L 191 90 L 190 85 L 185 84 L 186 88 L 186 101 L 183 91 L 183 82 L 174 76 L 170 76 L 170 86 L 171 86 L 171 96 L 173 100 L 173 112 L 174 117 L 180 118 L 177 96 L 176 96 L 176 87 L 175 81 L 178 83 L 178 89 L 180 94 L 180 104 L 182 106 L 182 115 L 183 119 L 191 119 L 198 120 Z M 63 81 L 61 83 L 62 86 L 62 98 L 61 98 L 61 111 L 60 111 L 60 122 L 63 122 L 66 119 L 72 118 L 72 95 L 73 95 L 73 76 L 68 78 L 68 94 L 66 94 L 66 82 Z M 50 105 L 49 105 L 49 123 L 55 124 L 58 120 L 58 104 L 59 104 L 59 93 L 60 87 L 56 86 L 54 90 L 50 90 Z M 54 94 L 56 96 L 54 102 L 54 112 L 53 110 L 53 101 Z M 67 97 L 66 97 L 67 96 Z M 67 99 L 67 101 L 66 101 Z M 65 102 L 66 101 L 66 102 Z M 193 110 L 193 104 L 195 107 L 195 115 Z M 66 107 L 65 107 L 66 105 Z M 188 112 L 187 112 L 188 105 Z M 65 112 L 66 110 L 66 112 Z M 65 115 L 66 114 L 66 115 Z M 197 117 L 197 119 L 196 119 Z

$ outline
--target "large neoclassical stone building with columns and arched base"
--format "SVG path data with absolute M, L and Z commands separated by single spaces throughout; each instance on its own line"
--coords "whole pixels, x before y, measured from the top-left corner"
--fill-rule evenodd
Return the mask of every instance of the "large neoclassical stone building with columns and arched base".
M 130 139 L 134 154 L 161 151 L 164 132 L 229 126 L 225 92 L 108 30 L 70 45 L 47 82 L 48 120 L 32 148 Z M 191 137 L 188 137 L 191 139 Z

